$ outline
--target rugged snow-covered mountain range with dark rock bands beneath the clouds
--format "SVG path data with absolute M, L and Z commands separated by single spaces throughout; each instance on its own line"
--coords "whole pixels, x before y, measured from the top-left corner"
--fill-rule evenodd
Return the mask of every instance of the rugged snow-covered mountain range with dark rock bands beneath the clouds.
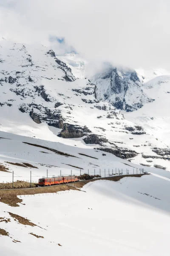
M 134 70 L 111 68 L 88 79 L 78 55 L 5 40 L 0 67 L 1 131 L 170 168 L 169 76 L 144 83 Z

